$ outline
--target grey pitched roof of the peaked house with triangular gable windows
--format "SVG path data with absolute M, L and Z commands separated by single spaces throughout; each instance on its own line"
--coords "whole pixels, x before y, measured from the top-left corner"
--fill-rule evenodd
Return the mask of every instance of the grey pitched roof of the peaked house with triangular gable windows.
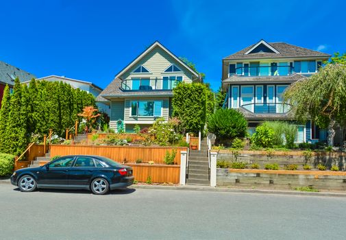
M 100 93 L 100 95 L 96 98 L 96 101 L 108 101 L 107 97 L 152 97 L 152 96 L 172 96 L 173 93 L 171 91 L 122 91 L 121 90 L 121 75 L 131 69 L 131 67 L 134 67 L 135 64 L 137 64 L 144 56 L 147 55 L 151 50 L 153 50 L 155 47 L 160 47 L 163 51 L 169 54 L 174 60 L 182 64 L 188 71 L 193 73 L 195 77 L 199 77 L 199 74 L 195 72 L 193 69 L 188 67 L 188 65 L 180 60 L 177 56 L 175 56 L 169 49 L 166 49 L 161 43 L 156 41 L 153 43 L 150 47 L 145 49 L 143 53 L 140 53 L 140 55 L 135 58 L 132 62 L 127 64 L 125 68 L 123 68 L 119 73 L 117 73 L 114 77 L 114 80 L 110 82 L 110 84 Z

